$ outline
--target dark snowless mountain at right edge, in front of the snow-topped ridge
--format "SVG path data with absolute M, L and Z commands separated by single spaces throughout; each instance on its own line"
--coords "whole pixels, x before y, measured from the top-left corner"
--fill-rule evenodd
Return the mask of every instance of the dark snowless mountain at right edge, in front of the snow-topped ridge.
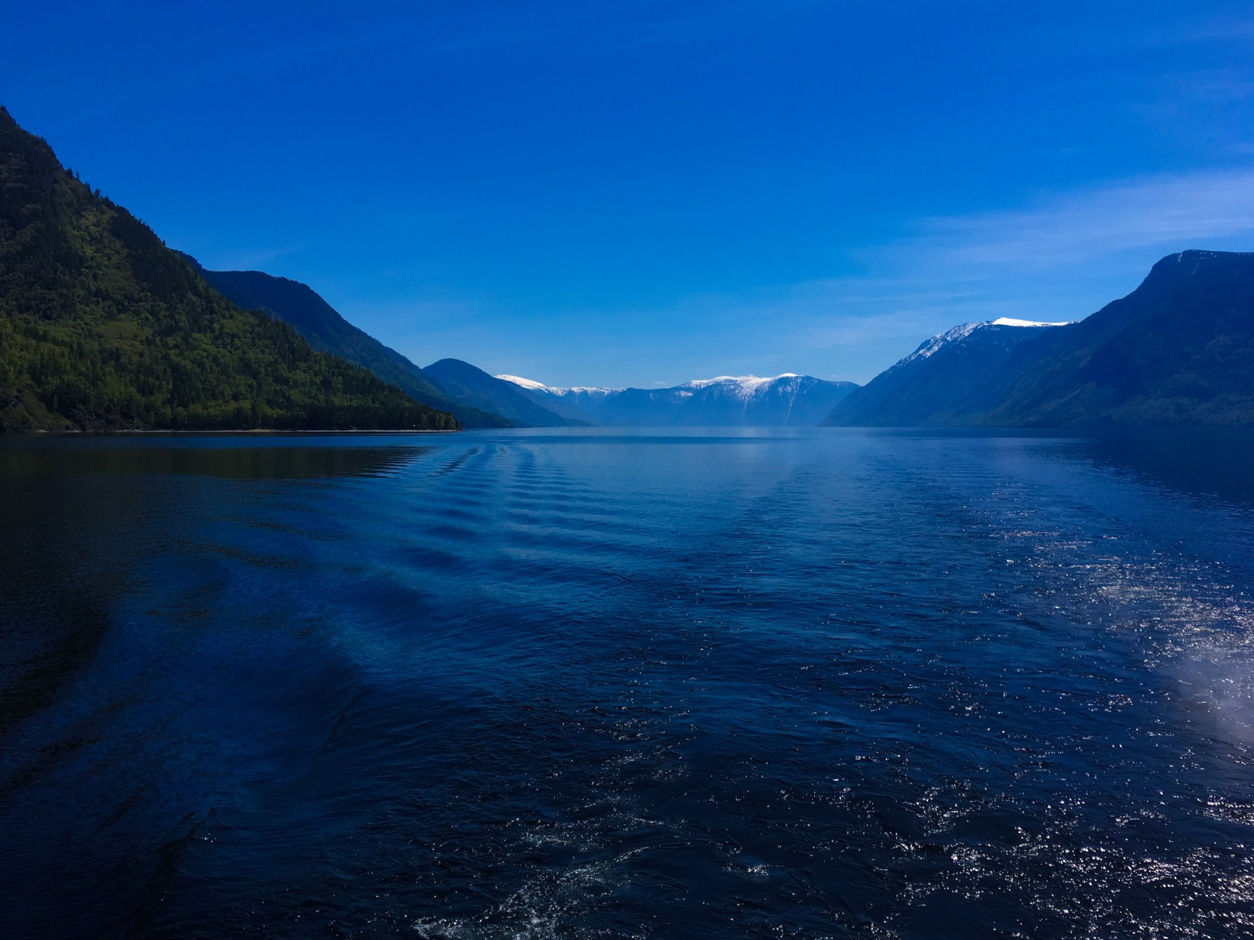
M 838 407 L 829 421 L 892 416 Z M 1126 297 L 1017 343 L 922 424 L 1254 425 L 1254 253 L 1169 254 Z

